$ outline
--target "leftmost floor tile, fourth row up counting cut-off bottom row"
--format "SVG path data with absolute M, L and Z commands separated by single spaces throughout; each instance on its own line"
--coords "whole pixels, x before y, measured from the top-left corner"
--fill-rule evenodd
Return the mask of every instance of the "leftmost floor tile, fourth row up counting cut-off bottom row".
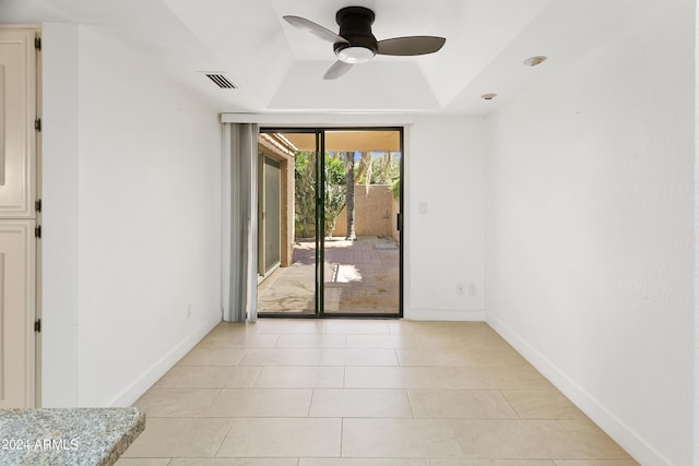
M 156 389 L 246 389 L 260 373 L 256 367 L 176 366 L 154 385 Z

